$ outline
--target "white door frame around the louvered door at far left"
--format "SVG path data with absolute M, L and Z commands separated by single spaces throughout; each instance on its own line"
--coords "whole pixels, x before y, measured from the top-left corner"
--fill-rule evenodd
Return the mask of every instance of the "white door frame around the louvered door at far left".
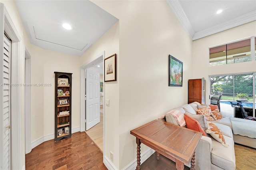
M 4 24 L 4 32 L 6 32 L 8 37 L 12 40 L 11 83 L 18 83 L 19 85 L 11 86 L 11 168 L 24 169 L 25 165 L 24 167 L 22 167 L 22 129 L 24 128 L 21 126 L 21 113 L 22 111 L 24 113 L 24 109 L 21 111 L 21 96 L 23 89 L 22 84 L 20 85 L 20 82 L 23 82 L 23 77 L 22 74 L 19 74 L 22 73 L 20 72 L 20 63 L 24 63 L 24 61 L 20 61 L 20 41 L 22 39 L 18 34 L 18 31 L 16 30 L 14 23 L 12 22 L 12 19 L 8 14 L 4 4 L 2 3 L 0 3 L 0 13 L 4 14 L 4 21 L 1 19 L 0 25 Z

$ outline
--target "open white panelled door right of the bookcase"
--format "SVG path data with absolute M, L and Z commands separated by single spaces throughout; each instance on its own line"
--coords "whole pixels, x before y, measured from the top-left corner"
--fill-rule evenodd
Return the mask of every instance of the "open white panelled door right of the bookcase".
M 86 130 L 100 123 L 100 73 L 86 71 Z

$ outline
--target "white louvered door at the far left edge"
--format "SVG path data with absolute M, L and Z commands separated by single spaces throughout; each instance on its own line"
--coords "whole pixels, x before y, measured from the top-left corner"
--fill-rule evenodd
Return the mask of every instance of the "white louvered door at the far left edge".
M 0 36 L 0 39 L 2 37 Z M 1 78 L 0 78 L 0 117 L 1 117 L 1 145 L 0 145 L 0 159 L 2 160 L 0 169 L 2 170 L 10 170 L 11 169 L 11 159 L 10 159 L 10 66 L 11 66 L 11 41 L 4 35 L 1 41 Z M 3 43 L 2 43 L 3 42 Z M 3 44 L 3 45 L 2 45 Z

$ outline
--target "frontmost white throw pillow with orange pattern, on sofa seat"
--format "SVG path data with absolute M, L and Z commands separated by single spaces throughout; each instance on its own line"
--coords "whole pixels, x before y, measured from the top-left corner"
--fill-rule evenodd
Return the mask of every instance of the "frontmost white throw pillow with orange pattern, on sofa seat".
M 214 125 L 212 122 L 207 121 L 207 130 L 206 133 L 209 133 L 215 140 L 220 142 L 223 146 L 228 147 L 228 144 L 226 144 L 224 136 L 216 125 Z

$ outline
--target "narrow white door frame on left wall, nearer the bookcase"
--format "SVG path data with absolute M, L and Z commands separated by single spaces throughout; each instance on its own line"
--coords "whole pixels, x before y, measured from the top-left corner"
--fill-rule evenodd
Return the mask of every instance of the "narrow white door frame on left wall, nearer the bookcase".
M 31 56 L 25 47 L 25 154 L 31 152 Z

